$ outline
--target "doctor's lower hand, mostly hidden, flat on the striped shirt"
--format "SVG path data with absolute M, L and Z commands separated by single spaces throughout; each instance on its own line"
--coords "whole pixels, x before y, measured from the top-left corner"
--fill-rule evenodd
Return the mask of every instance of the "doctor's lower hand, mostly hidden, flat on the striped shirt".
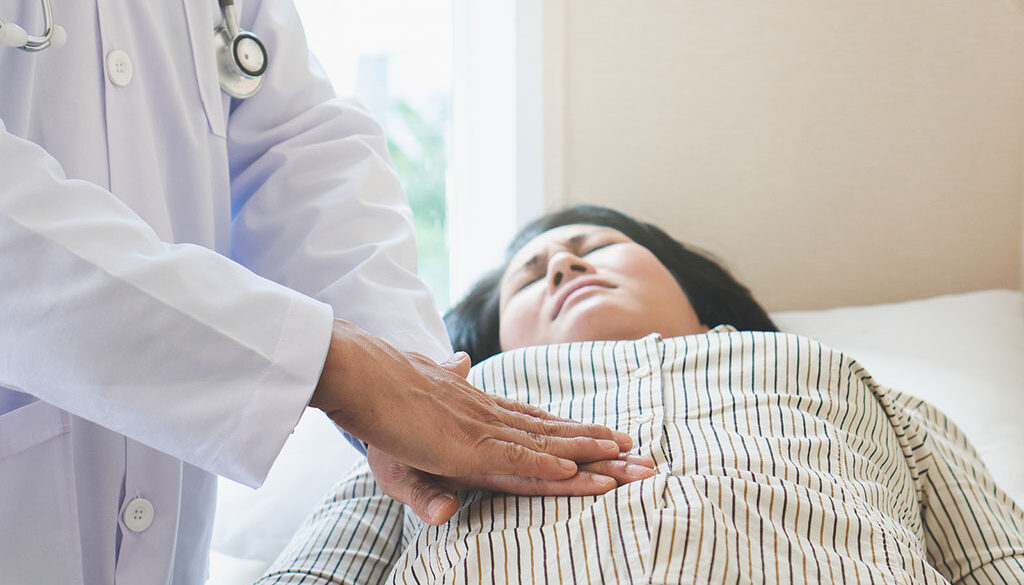
M 413 508 L 429 525 L 444 524 L 459 510 L 457 491 L 486 490 L 526 496 L 598 496 L 617 486 L 650 477 L 654 462 L 648 457 L 621 453 L 615 459 L 580 465 L 567 479 L 546 480 L 516 475 L 440 477 L 410 467 L 370 446 L 367 462 L 380 489 Z

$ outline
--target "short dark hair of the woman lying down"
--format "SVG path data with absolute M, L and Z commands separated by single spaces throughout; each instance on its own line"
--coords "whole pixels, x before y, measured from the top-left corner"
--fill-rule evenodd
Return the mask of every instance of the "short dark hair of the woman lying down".
M 458 304 L 444 315 L 452 345 L 469 353 L 473 363 L 500 353 L 500 284 L 512 256 L 541 234 L 572 223 L 601 225 L 625 234 L 650 250 L 672 273 L 686 293 L 700 323 L 732 325 L 740 331 L 778 331 L 751 291 L 711 255 L 684 246 L 659 227 L 606 207 L 580 205 L 549 213 L 523 227 L 509 244 L 503 266 L 484 275 Z

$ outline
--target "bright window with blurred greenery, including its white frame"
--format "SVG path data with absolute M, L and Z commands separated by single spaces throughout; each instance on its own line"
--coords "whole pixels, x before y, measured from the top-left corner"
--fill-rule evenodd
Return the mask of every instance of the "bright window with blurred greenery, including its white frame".
M 296 4 L 335 90 L 384 126 L 443 310 L 560 201 L 558 93 L 542 66 L 559 61 L 561 0 Z

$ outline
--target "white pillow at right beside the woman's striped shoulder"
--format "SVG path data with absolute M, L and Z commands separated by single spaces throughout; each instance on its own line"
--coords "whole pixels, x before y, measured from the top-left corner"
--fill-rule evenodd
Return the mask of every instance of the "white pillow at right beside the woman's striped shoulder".
M 990 290 L 772 318 L 783 331 L 854 358 L 879 383 L 939 407 L 1024 504 L 1024 294 Z

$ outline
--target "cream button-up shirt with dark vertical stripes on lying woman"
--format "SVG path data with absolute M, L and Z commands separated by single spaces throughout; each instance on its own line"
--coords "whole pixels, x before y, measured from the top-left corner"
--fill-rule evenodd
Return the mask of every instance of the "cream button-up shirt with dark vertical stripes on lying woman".
M 961 431 L 812 339 L 527 347 L 471 381 L 628 432 L 655 476 L 596 497 L 465 493 L 429 527 L 361 463 L 259 585 L 1024 583 L 1024 513 Z

